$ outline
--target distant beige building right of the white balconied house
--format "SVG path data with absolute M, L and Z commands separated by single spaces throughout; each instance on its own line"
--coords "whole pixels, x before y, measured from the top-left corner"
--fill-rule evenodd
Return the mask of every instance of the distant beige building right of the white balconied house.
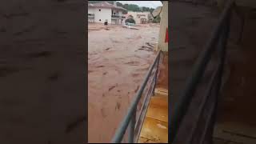
M 132 16 L 136 23 L 146 23 L 153 20 L 150 11 L 137 12 L 137 11 L 128 11 L 126 18 Z

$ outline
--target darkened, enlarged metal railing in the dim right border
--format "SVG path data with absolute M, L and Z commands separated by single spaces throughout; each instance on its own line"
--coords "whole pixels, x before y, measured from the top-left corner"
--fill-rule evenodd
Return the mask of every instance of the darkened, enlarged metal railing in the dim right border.
M 171 143 L 212 143 L 233 6 L 234 1 L 232 0 L 226 3 L 226 8 L 218 20 L 218 26 L 215 27 L 210 40 L 199 55 L 192 74 L 186 82 L 185 90 L 174 107 L 174 114 L 170 121 L 169 138 Z M 213 59 L 214 53 L 218 55 L 215 57 L 217 58 L 216 69 L 212 73 L 209 83 L 202 84 L 200 82 L 206 74 L 207 66 L 209 66 L 210 60 Z M 202 85 L 206 86 L 206 89 L 200 89 L 199 86 Z M 199 98 L 200 101 L 193 101 L 195 98 Z M 192 101 L 199 103 L 193 105 Z M 189 123 L 189 126 L 187 123 Z

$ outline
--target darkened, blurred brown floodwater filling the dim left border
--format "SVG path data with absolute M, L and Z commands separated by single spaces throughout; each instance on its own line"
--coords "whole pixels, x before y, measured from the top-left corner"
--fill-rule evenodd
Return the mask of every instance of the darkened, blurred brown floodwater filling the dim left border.
M 84 142 L 85 7 L 0 1 L 0 143 Z

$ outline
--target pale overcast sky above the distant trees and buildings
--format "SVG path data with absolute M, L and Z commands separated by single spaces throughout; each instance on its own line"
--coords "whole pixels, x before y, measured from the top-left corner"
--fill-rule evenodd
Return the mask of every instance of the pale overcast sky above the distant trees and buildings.
M 118 1 L 121 2 L 122 4 L 135 4 L 138 6 L 146 6 L 150 8 L 156 8 L 158 6 L 162 6 L 162 2 L 160 1 Z

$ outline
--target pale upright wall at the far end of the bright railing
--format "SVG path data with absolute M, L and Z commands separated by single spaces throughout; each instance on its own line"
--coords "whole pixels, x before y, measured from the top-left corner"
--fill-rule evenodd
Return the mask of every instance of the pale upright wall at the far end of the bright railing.
M 158 49 L 162 51 L 168 51 L 168 42 L 165 42 L 167 27 L 168 27 L 168 1 L 163 1 L 160 31 L 159 31 L 159 38 L 158 38 Z

